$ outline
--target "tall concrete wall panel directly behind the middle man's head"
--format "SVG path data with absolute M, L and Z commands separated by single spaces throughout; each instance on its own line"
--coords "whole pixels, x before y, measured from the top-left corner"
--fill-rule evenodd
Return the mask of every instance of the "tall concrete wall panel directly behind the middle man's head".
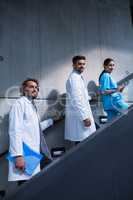
M 72 70 L 71 59 L 84 54 L 88 62 L 86 79 L 97 73 L 99 40 L 96 1 L 42 1 L 40 7 L 41 81 L 43 94 L 65 91 Z M 97 58 L 97 59 L 96 59 Z M 93 73 L 91 71 L 93 67 Z

